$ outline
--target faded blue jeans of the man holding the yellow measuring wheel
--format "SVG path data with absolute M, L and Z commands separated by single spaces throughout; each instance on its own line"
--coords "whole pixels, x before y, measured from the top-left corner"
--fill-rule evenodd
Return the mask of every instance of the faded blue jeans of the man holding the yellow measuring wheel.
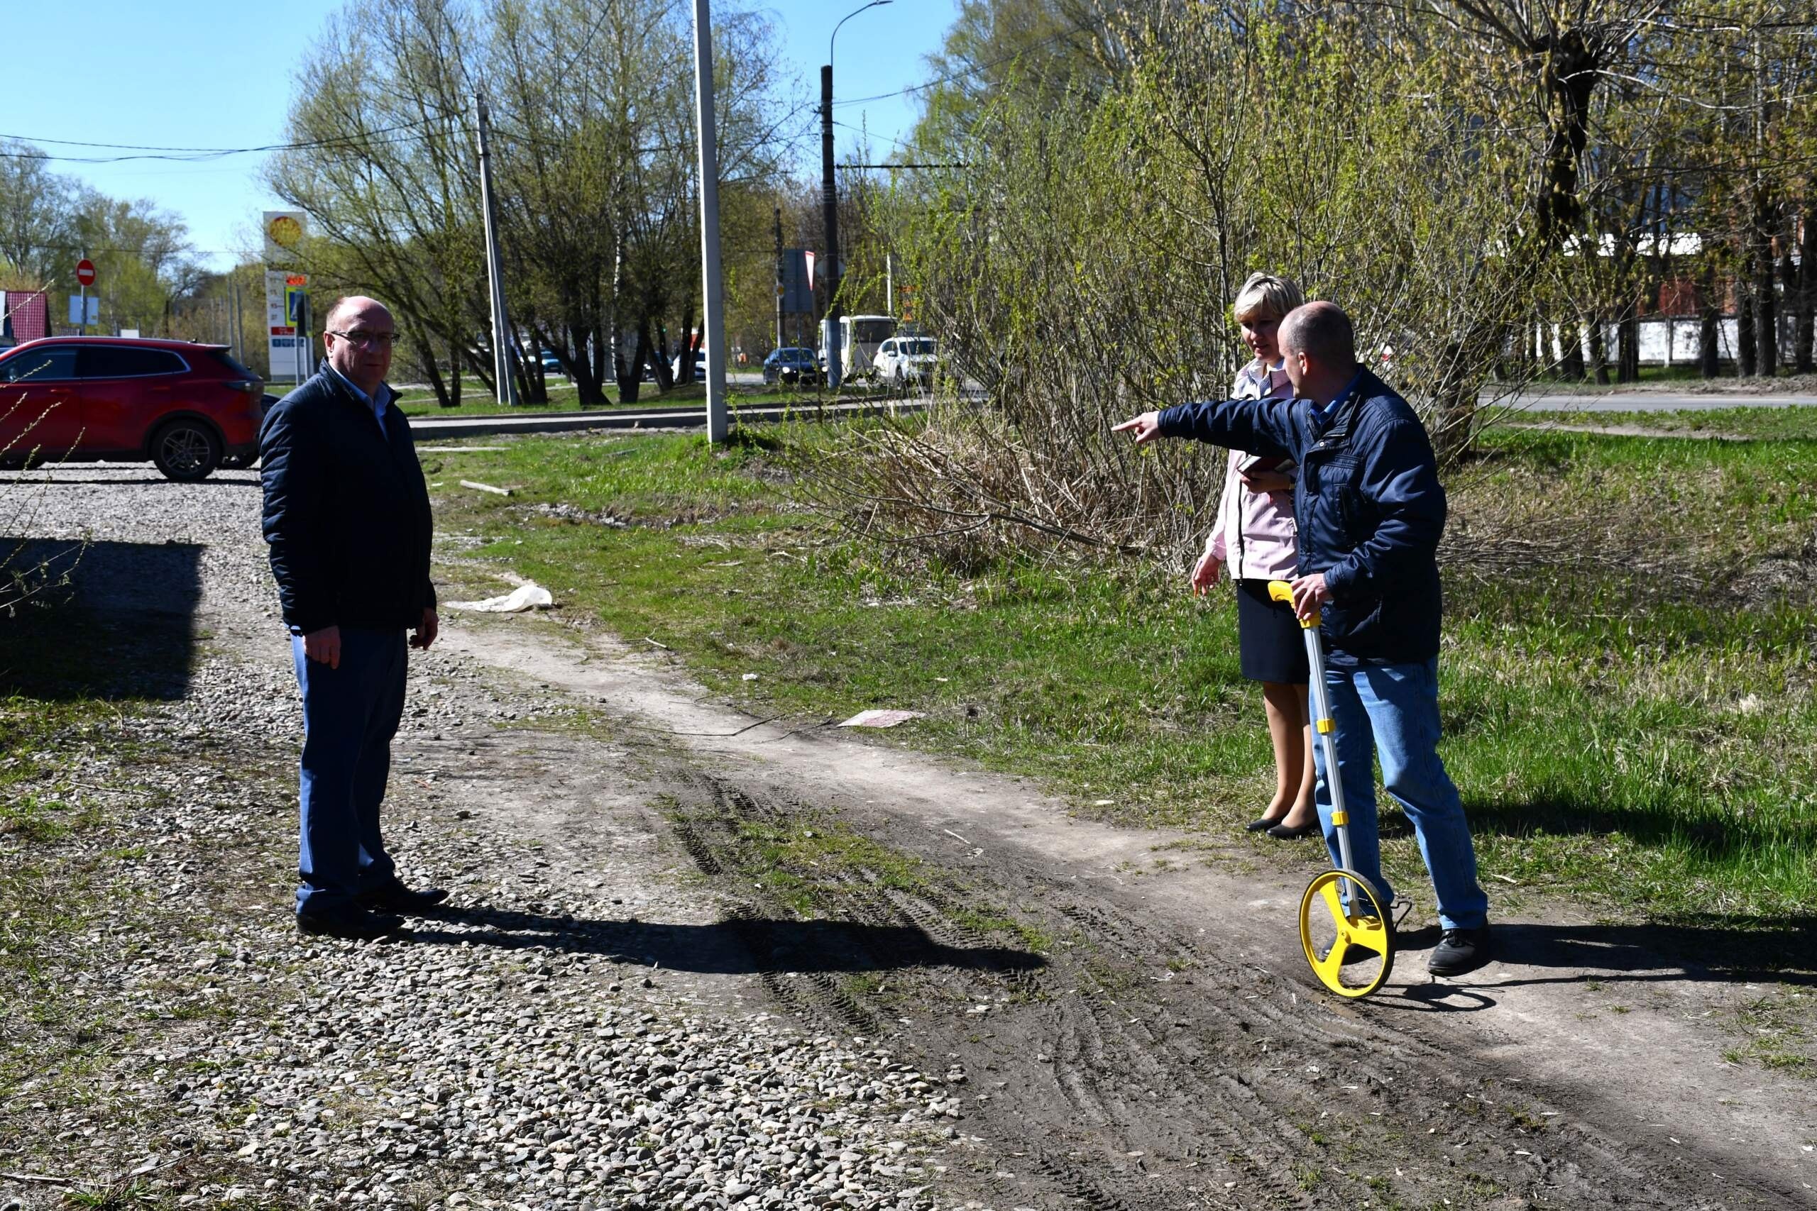
M 1375 826 L 1375 753 L 1381 753 L 1383 786 L 1414 822 L 1419 855 L 1432 873 L 1439 924 L 1446 930 L 1488 924 L 1488 897 L 1477 886 L 1470 824 L 1457 788 L 1439 761 L 1439 657 L 1412 665 L 1326 668 L 1325 692 L 1337 724 L 1337 772 L 1345 781 L 1345 808 L 1350 812 L 1350 866 L 1375 884 L 1383 906 L 1394 901 L 1394 888 L 1381 873 L 1381 837 Z M 1325 744 L 1314 743 L 1314 757 L 1319 770 L 1319 824 L 1325 828 L 1332 864 L 1337 866 Z

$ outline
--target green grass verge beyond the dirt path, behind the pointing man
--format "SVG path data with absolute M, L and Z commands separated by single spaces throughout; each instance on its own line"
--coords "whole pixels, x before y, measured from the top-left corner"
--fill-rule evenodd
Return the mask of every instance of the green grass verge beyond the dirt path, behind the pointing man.
M 1454 528 L 1583 528 L 1586 550 L 1568 568 L 1448 574 L 1443 753 L 1497 906 L 1539 893 L 1693 928 L 1808 924 L 1817 612 L 1802 579 L 1743 605 L 1726 570 L 1802 561 L 1817 443 L 1504 432 L 1484 447 L 1452 476 Z M 485 539 L 474 557 L 676 650 L 750 710 L 923 710 L 881 743 L 1039 775 L 1136 824 L 1230 835 L 1272 790 L 1225 592 L 1192 601 L 1172 572 L 1065 554 L 970 579 L 918 570 L 792 505 L 758 445 L 523 439 L 462 468 L 518 490 L 443 496 L 440 525 Z M 551 503 L 629 525 L 536 512 Z M 1390 873 L 1419 895 L 1412 837 L 1392 819 L 1385 832 Z

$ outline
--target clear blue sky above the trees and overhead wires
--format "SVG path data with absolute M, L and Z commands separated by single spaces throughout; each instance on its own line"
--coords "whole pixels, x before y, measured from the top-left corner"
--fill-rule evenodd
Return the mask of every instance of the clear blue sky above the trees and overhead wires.
M 687 5 L 687 0 L 678 0 Z M 783 69 L 799 74 L 799 93 L 819 96 L 827 34 L 859 0 L 779 0 L 752 4 L 770 15 Z M 291 73 L 316 40 L 338 0 L 291 0 L 249 7 L 227 0 L 144 0 L 9 4 L 5 15 L 7 103 L 0 134 L 44 140 L 58 156 L 124 156 L 127 151 L 62 147 L 49 140 L 160 147 L 258 147 L 283 140 Z M 683 7 L 683 11 L 687 11 Z M 874 96 L 921 84 L 923 56 L 939 47 L 956 0 L 894 0 L 854 16 L 839 31 L 836 96 Z M 20 53 L 33 47 L 33 53 Z M 841 105 L 834 118 L 841 154 L 872 133 L 874 151 L 890 151 L 919 107 L 914 94 Z M 816 145 L 818 147 L 818 145 Z M 262 156 L 202 163 L 129 160 L 56 162 L 102 192 L 149 198 L 189 223 L 196 249 L 223 269 L 256 247 L 258 212 L 280 205 L 258 183 Z

